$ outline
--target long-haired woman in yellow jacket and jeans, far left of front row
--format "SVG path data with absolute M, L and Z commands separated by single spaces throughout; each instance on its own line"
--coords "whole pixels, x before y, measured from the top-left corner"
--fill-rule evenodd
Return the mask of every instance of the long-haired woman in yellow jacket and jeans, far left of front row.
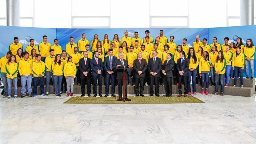
M 12 82 L 13 82 L 13 88 L 14 88 L 13 98 L 17 98 L 18 63 L 16 61 L 16 57 L 14 54 L 11 55 L 8 62 L 6 63 L 5 69 L 7 73 L 6 78 L 7 78 L 7 84 L 8 84 L 8 98 L 11 98 L 11 95 L 12 95 Z

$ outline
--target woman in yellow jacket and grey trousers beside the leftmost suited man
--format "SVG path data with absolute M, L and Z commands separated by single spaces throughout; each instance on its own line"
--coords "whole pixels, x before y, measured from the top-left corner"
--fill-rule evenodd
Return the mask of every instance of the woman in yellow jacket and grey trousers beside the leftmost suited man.
M 68 62 L 64 65 L 63 73 L 67 81 L 67 92 L 68 92 L 67 96 L 74 96 L 73 87 L 74 87 L 74 77 L 76 75 L 76 66 L 72 62 L 72 57 L 68 57 Z

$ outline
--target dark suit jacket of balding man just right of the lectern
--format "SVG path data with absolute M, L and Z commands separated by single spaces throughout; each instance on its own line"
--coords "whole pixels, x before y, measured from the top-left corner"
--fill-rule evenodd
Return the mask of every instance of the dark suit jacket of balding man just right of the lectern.
M 146 59 L 141 58 L 141 63 L 139 59 L 133 61 L 133 70 L 134 78 L 145 78 L 146 77 L 146 70 L 147 70 L 147 61 Z M 138 71 L 142 71 L 142 74 L 138 74 Z

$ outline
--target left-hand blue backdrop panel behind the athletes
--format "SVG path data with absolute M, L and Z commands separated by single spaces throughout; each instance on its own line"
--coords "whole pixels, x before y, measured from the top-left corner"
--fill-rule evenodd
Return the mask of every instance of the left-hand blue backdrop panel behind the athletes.
M 0 57 L 3 57 L 9 50 L 9 45 L 13 43 L 13 38 L 17 36 L 19 43 L 23 46 L 23 51 L 29 45 L 30 38 L 35 40 L 35 45 L 43 41 L 42 36 L 47 35 L 47 41 L 52 45 L 53 40 L 56 38 L 56 29 L 51 28 L 30 28 L 30 27 L 9 27 L 0 26 Z

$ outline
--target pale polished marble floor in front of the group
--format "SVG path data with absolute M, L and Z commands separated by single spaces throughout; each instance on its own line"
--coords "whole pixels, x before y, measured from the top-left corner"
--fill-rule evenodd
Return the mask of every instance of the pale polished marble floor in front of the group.
M 205 103 L 63 104 L 66 96 L 0 97 L 0 144 L 256 144 L 252 97 Z

